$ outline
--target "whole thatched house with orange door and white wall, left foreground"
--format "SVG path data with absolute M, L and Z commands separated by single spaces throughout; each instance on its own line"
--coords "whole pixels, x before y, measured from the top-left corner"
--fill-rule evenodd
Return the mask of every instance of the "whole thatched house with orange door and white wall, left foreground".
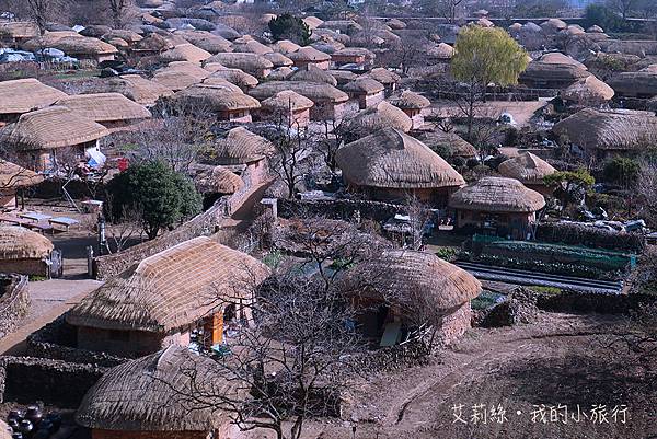
M 251 320 L 253 288 L 268 273 L 244 253 L 194 238 L 111 278 L 66 321 L 76 327 L 77 347 L 87 350 L 139 357 L 187 346 L 193 333 L 209 348 L 223 342 L 224 323 Z

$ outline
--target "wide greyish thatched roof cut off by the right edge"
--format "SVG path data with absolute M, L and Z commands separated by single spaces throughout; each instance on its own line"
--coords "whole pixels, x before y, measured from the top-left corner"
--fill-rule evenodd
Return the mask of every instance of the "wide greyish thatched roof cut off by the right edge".
M 581 109 L 557 123 L 557 135 L 586 149 L 632 150 L 657 138 L 657 117 L 647 112 Z

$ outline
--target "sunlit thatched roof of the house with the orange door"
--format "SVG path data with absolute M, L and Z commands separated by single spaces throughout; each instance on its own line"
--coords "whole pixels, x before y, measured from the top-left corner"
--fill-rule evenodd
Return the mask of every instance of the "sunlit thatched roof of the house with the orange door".
M 107 280 L 66 316 L 76 326 L 168 333 L 252 299 L 269 269 L 253 257 L 199 236 L 174 245 Z

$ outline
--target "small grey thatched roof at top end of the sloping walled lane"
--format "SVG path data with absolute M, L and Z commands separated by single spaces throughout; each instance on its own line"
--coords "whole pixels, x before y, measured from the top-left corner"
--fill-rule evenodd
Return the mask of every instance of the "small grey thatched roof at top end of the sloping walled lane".
M 217 157 L 221 164 L 246 164 L 263 160 L 274 152 L 274 146 L 267 139 L 237 127 L 217 141 Z

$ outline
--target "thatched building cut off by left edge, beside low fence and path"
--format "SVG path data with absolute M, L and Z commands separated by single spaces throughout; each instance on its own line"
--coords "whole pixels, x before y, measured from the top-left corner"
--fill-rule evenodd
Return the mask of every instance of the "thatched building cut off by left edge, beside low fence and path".
M 18 226 L 0 226 L 0 272 L 50 277 L 53 242 Z

